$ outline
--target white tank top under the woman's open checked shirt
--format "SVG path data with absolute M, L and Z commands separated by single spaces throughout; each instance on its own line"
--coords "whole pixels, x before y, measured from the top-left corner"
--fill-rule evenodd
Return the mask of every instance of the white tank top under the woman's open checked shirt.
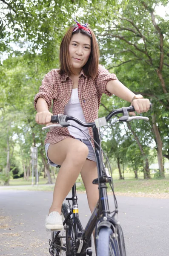
M 70 98 L 68 104 L 66 104 L 66 106 L 64 108 L 64 114 L 67 116 L 75 116 L 78 119 L 80 119 L 81 121 L 86 122 L 85 117 L 83 115 L 82 108 L 80 106 L 80 101 L 79 101 L 79 96 L 78 96 L 78 88 L 72 89 L 72 95 L 71 95 L 71 98 Z M 72 125 L 76 125 L 80 129 L 85 131 L 87 134 L 89 134 L 87 127 L 83 127 L 83 126 L 77 124 L 76 122 L 74 122 L 73 120 L 69 120 L 69 122 Z M 83 135 L 83 133 L 79 129 L 68 126 L 68 130 L 69 130 L 69 133 L 76 139 L 87 140 L 87 138 Z

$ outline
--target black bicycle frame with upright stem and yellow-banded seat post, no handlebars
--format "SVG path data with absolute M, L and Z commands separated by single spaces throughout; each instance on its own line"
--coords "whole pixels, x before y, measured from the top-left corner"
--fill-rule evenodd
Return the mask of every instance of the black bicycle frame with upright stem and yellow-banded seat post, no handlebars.
M 103 172 L 101 166 L 103 163 L 100 161 L 100 149 L 98 145 L 100 144 L 100 138 L 99 133 L 95 125 L 92 127 L 93 129 L 93 135 L 95 143 L 95 153 L 96 153 L 96 163 L 97 163 L 97 172 L 98 172 L 98 179 L 102 180 Z M 97 145 L 98 144 L 98 145 Z M 97 184 L 97 183 L 96 183 Z M 76 185 L 72 187 L 72 198 L 66 198 L 67 201 L 72 200 L 72 210 L 73 212 L 70 212 L 66 219 L 70 217 L 70 215 L 73 213 L 74 218 L 74 237 L 75 241 L 79 241 L 79 246 L 77 249 L 77 253 L 81 253 L 83 255 L 83 251 L 86 251 L 87 247 L 90 247 L 91 243 L 91 236 L 92 232 L 96 227 L 97 221 L 104 221 L 104 217 L 108 217 L 110 210 L 109 210 L 109 203 L 108 203 L 108 197 L 107 197 L 107 186 L 106 182 L 100 183 L 100 189 L 99 189 L 99 200 L 96 204 L 96 207 L 89 218 L 88 223 L 86 224 L 85 229 L 83 230 L 83 227 L 79 220 L 78 215 L 78 205 L 77 205 L 77 193 L 76 193 Z M 102 215 L 100 218 L 99 216 Z M 66 222 L 66 220 L 65 220 Z M 85 241 L 85 243 L 83 243 Z M 86 254 L 85 254 L 86 255 Z

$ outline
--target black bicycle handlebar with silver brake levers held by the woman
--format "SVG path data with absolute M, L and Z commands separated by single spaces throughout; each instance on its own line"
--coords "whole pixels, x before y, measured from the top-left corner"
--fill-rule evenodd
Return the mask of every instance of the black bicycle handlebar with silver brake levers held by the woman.
M 150 103 L 150 108 L 152 108 L 152 104 Z M 135 111 L 135 108 L 133 106 L 129 106 L 127 108 L 118 108 L 112 112 L 110 112 L 106 117 L 101 117 L 95 120 L 95 122 L 91 122 L 91 123 L 86 123 L 86 122 L 82 122 L 80 119 L 74 117 L 74 116 L 67 116 L 64 114 L 58 114 L 58 115 L 54 115 L 51 116 L 51 122 L 52 123 L 59 123 L 59 124 L 54 124 L 54 125 L 48 125 L 42 128 L 42 130 L 48 129 L 48 128 L 52 128 L 52 127 L 67 127 L 70 126 L 71 124 L 67 121 L 69 120 L 73 120 L 75 122 L 77 122 L 78 124 L 85 126 L 85 127 L 92 127 L 92 126 L 96 126 L 96 128 L 99 128 L 101 126 L 105 126 L 107 125 L 107 122 L 112 118 L 112 116 L 115 116 L 116 114 L 119 113 L 123 113 L 123 116 L 121 116 L 119 118 L 119 121 L 122 122 L 126 122 L 126 121 L 130 121 L 132 119 L 144 119 L 146 121 L 149 120 L 148 117 L 144 117 L 144 116 L 132 116 L 129 117 L 129 113 L 128 112 L 133 112 Z

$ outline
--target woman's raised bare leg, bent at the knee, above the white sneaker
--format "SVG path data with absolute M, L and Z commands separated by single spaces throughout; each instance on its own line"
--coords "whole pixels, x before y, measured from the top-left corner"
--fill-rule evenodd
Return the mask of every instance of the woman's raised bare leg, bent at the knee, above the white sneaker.
M 61 165 L 54 186 L 53 202 L 49 213 L 53 211 L 61 213 L 63 201 L 77 180 L 88 153 L 88 147 L 73 138 L 66 138 L 49 146 L 49 159 L 53 163 Z

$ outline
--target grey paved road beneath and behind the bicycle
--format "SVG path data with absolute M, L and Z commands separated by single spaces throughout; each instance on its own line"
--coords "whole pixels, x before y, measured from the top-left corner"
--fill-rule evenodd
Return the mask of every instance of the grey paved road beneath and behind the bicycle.
M 86 194 L 78 199 L 84 227 L 90 215 Z M 168 256 L 169 199 L 118 196 L 117 201 L 127 256 Z M 0 256 L 49 256 L 44 219 L 51 202 L 52 192 L 0 190 Z

